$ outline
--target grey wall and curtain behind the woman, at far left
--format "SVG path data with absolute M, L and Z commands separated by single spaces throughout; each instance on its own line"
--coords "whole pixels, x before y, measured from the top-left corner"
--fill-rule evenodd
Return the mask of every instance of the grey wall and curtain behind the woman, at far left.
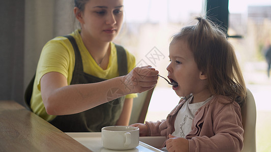
M 41 50 L 73 27 L 73 0 L 0 1 L 0 100 L 24 104 Z

